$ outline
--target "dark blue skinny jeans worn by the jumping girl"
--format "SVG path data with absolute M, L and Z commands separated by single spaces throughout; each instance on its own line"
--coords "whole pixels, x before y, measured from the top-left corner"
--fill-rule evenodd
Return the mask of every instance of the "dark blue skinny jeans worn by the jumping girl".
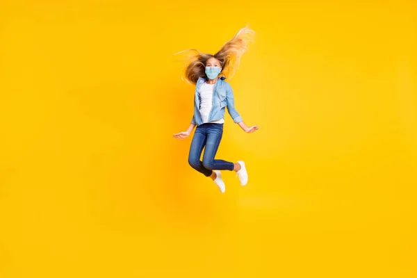
M 234 163 L 214 159 L 215 153 L 218 151 L 220 145 L 220 140 L 222 140 L 222 135 L 223 124 L 200 124 L 195 129 L 190 154 L 188 155 L 188 163 L 206 177 L 210 177 L 213 170 L 232 171 L 234 169 Z M 203 161 L 200 161 L 204 146 Z

